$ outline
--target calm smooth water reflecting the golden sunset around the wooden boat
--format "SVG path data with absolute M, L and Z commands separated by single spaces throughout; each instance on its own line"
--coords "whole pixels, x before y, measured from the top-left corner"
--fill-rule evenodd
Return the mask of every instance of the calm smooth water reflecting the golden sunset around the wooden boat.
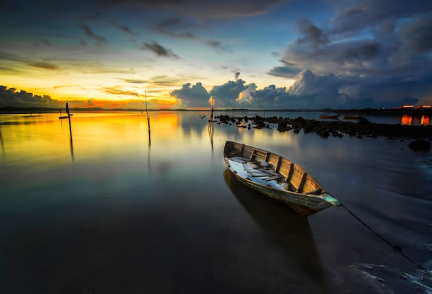
M 57 114 L 1 115 L 0 293 L 432 293 L 343 207 L 300 217 L 226 173 L 222 150 L 292 159 L 426 268 L 432 153 L 275 128 L 212 135 L 208 115 L 152 112 L 149 134 L 141 113 L 76 113 L 72 140 Z

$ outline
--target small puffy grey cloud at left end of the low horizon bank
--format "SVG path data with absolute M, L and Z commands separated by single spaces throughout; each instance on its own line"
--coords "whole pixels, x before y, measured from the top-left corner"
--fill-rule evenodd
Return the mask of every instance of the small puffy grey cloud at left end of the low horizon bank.
M 171 96 L 181 99 L 181 106 L 184 107 L 210 107 L 210 94 L 201 83 L 193 86 L 190 83 L 184 84 L 181 89 L 173 90 Z

